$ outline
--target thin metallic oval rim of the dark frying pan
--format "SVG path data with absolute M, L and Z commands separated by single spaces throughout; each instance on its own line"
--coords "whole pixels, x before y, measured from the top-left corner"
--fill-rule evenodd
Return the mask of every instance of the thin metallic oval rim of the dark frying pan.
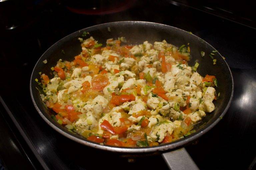
M 51 45 L 42 55 L 41 57 L 38 59 L 38 61 L 36 62 L 34 68 L 33 68 L 33 71 L 32 71 L 32 74 L 31 74 L 31 77 L 30 77 L 30 95 L 31 95 L 31 99 L 32 99 L 32 102 L 37 110 L 37 112 L 39 113 L 39 115 L 43 118 L 43 120 L 50 126 L 52 127 L 54 130 L 56 130 L 57 132 L 59 132 L 60 134 L 64 135 L 65 137 L 73 140 L 73 141 L 76 141 L 80 144 L 83 144 L 83 145 L 86 145 L 86 146 L 89 146 L 89 147 L 94 147 L 96 149 L 102 149 L 102 150 L 107 150 L 107 151 L 113 151 L 113 152 L 122 152 L 122 153 L 146 153 L 146 152 L 157 152 L 157 151 L 165 151 L 165 150 L 171 150 L 171 149 L 175 149 L 175 148 L 179 148 L 179 147 L 182 147 L 184 146 L 185 144 L 187 143 L 190 143 L 192 141 L 194 141 L 195 139 L 199 138 L 200 136 L 202 136 L 203 134 L 205 134 L 207 131 L 209 131 L 211 128 L 213 128 L 219 121 L 220 119 L 217 118 L 212 124 L 210 124 L 209 126 L 203 128 L 202 130 L 200 131 L 197 131 L 195 132 L 194 134 L 192 135 L 189 135 L 187 136 L 186 138 L 183 138 L 183 139 L 179 139 L 175 142 L 171 142 L 171 143 L 167 143 L 167 144 L 164 144 L 164 145 L 159 145 L 159 146 L 154 146 L 154 147 L 141 147 L 141 148 L 126 148 L 126 147 L 114 147 L 114 146 L 108 146 L 108 145 L 100 145 L 100 144 L 97 144 L 97 143 L 94 143 L 94 142 L 91 142 L 91 141 L 88 141 L 86 140 L 86 138 L 82 139 L 82 138 L 78 138 L 76 137 L 74 134 L 70 134 L 68 132 L 65 132 L 64 130 L 62 130 L 61 128 L 58 128 L 57 126 L 55 126 L 53 123 L 51 123 L 45 116 L 44 114 L 41 112 L 41 110 L 38 108 L 35 100 L 34 100 L 34 97 L 33 97 L 33 92 L 32 92 L 32 77 L 33 77 L 33 74 L 34 74 L 34 70 L 36 68 L 36 66 L 38 65 L 38 62 L 39 60 L 45 55 L 45 53 L 51 49 L 53 46 L 55 46 L 56 44 L 58 44 L 59 42 L 61 41 L 64 41 L 67 37 L 70 37 L 74 34 L 77 34 L 78 32 L 80 33 L 81 31 L 85 30 L 85 29 L 91 29 L 91 28 L 94 28 L 94 27 L 99 27 L 99 26 L 107 26 L 107 25 L 111 25 L 111 24 L 118 24 L 118 23 L 124 23 L 124 24 L 134 24 L 134 23 L 138 23 L 138 24 L 151 24 L 151 25 L 161 25 L 161 26 L 165 26 L 165 27 L 172 27 L 174 29 L 177 29 L 177 30 L 180 30 L 182 32 L 187 32 L 187 31 L 184 31 L 182 29 L 179 29 L 179 28 L 176 28 L 176 27 L 173 27 L 173 26 L 169 26 L 169 25 L 165 25 L 165 24 L 159 24 L 159 23 L 153 23 L 153 22 L 145 22 L 145 21 L 119 21 L 119 22 L 110 22 L 110 23 L 104 23 L 104 24 L 99 24 L 99 25 L 94 25 L 94 26 L 91 26 L 91 27 L 87 27 L 87 28 L 84 28 L 84 29 L 81 29 L 81 30 L 78 30 L 74 33 L 71 33 L 67 36 L 65 36 L 64 38 L 60 39 L 59 41 L 55 42 L 53 45 Z M 187 32 L 187 34 L 189 34 Z M 195 36 L 195 35 L 192 35 L 192 36 Z M 204 43 L 206 43 L 207 45 L 209 45 L 210 47 L 212 47 L 214 50 L 216 50 L 212 45 L 210 45 L 208 42 L 204 41 L 203 39 L 195 36 L 195 38 L 199 39 L 200 41 L 203 41 Z M 219 53 L 219 52 L 218 52 Z M 220 53 L 219 53 L 220 54 Z M 220 56 L 222 56 L 220 54 Z M 223 59 L 224 60 L 224 59 Z M 230 107 L 231 105 L 231 101 L 232 101 L 232 98 L 233 98 L 233 94 L 234 94 L 234 80 L 233 80 L 233 75 L 232 75 L 232 72 L 227 64 L 227 62 L 224 60 L 224 62 L 226 63 L 226 66 L 228 67 L 228 70 L 230 72 L 230 75 L 231 75 L 231 80 L 232 80 L 232 91 L 231 91 L 231 95 L 230 95 L 230 99 L 228 101 L 228 104 L 226 106 L 226 108 L 224 109 L 224 111 L 221 113 L 221 117 L 223 117 L 228 108 Z

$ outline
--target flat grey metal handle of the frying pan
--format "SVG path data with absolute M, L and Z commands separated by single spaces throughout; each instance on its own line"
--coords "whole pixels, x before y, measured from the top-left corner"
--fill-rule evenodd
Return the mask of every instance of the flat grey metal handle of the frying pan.
M 199 170 L 184 147 L 163 153 L 162 157 L 171 170 Z

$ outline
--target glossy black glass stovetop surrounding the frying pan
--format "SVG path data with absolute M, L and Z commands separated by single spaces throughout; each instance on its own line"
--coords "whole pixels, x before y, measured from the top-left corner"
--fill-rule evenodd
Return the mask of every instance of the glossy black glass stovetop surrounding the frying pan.
M 200 169 L 256 168 L 255 22 L 243 22 L 242 17 L 235 16 L 227 20 L 226 16 L 216 16 L 216 12 L 211 15 L 209 9 L 205 12 L 198 4 L 189 7 L 182 1 L 122 2 L 127 9 L 117 5 L 113 10 L 108 6 L 106 11 L 110 14 L 104 15 L 74 13 L 79 5 L 66 1 L 33 1 L 20 7 L 11 4 L 21 14 L 13 20 L 17 27 L 0 29 L 0 169 L 1 164 L 8 169 L 167 169 L 161 155 L 128 159 L 65 138 L 43 121 L 30 98 L 32 69 L 54 42 L 82 28 L 127 20 L 157 22 L 191 31 L 226 58 L 235 84 L 230 109 L 213 129 L 186 149 Z M 72 6 L 73 12 L 67 5 Z M 116 9 L 119 12 L 111 13 Z M 235 22 L 230 21 L 232 17 Z

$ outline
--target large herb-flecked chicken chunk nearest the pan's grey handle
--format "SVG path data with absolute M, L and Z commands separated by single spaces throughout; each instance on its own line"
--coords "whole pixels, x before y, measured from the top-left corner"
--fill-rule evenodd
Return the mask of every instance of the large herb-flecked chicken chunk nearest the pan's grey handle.
M 160 124 L 159 126 L 155 126 L 150 133 L 150 137 L 152 139 L 157 140 L 158 142 L 162 142 L 166 133 L 172 134 L 175 125 L 170 121 L 168 123 Z

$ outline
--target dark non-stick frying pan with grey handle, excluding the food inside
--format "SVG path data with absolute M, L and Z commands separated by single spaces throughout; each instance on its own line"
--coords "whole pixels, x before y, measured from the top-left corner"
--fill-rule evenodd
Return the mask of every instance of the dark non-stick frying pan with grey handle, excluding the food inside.
M 105 146 L 88 141 L 79 134 L 69 132 L 67 128 L 59 125 L 51 118 L 50 115 L 54 115 L 54 112 L 44 107 L 40 98 L 40 93 L 37 90 L 37 88 L 40 89 L 40 87 L 35 79 L 39 79 L 39 72 L 45 73 L 49 78 L 52 78 L 53 74 L 50 68 L 54 66 L 59 59 L 72 60 L 75 55 L 78 55 L 81 52 L 81 46 L 77 39 L 81 37 L 83 32 L 89 32 L 89 36 L 93 36 L 95 40 L 98 40 L 98 42 L 103 45 L 106 45 L 105 42 L 107 39 L 117 39 L 118 37 L 125 37 L 127 39 L 126 44 L 141 44 L 144 41 L 153 43 L 162 40 L 166 40 L 168 43 L 176 46 L 189 43 L 192 56 L 189 65 L 193 66 L 195 61 L 197 61 L 199 63 L 197 71 L 200 75 L 215 75 L 218 79 L 216 92 L 217 94 L 220 93 L 220 97 L 214 102 L 216 109 L 212 113 L 207 114 L 202 122 L 195 126 L 195 133 L 172 143 L 161 144 L 155 147 L 125 148 Z M 214 55 L 214 58 L 217 59 L 217 63 L 213 65 L 213 60 L 209 56 L 213 50 L 216 49 L 199 37 L 184 30 L 163 24 L 124 21 L 92 26 L 72 33 L 56 42 L 39 58 L 30 79 L 31 98 L 36 110 L 48 125 L 76 142 L 98 149 L 122 152 L 123 154 L 161 152 L 163 158 L 171 169 L 198 169 L 184 149 L 184 146 L 198 139 L 220 121 L 230 106 L 234 90 L 231 71 L 219 52 L 216 52 Z M 204 57 L 201 56 L 201 51 L 205 52 Z M 47 59 L 46 64 L 43 63 L 45 59 Z

